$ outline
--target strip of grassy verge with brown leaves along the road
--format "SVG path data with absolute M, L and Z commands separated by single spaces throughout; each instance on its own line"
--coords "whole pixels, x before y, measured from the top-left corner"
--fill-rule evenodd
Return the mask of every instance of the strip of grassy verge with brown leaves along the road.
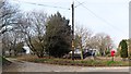
M 35 63 L 48 63 L 59 65 L 78 65 L 78 66 L 129 66 L 129 61 L 111 61 L 111 60 L 74 60 L 71 59 L 58 59 L 58 58 L 17 58 L 19 60 L 35 62 Z

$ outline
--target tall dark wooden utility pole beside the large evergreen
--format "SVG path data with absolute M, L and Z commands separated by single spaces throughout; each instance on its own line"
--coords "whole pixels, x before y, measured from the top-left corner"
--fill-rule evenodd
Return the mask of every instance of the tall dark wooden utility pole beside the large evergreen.
M 74 60 L 74 2 L 71 4 L 72 8 L 72 60 Z

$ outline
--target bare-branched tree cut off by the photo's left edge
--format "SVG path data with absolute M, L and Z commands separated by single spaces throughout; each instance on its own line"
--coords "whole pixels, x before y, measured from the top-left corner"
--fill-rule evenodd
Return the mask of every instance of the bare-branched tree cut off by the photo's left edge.
M 10 4 L 8 0 L 0 2 L 0 37 L 2 38 L 3 53 L 4 50 L 14 50 L 17 41 L 17 35 L 15 34 L 17 32 L 15 30 L 15 26 L 19 24 L 17 20 L 20 16 L 21 13 L 17 5 Z

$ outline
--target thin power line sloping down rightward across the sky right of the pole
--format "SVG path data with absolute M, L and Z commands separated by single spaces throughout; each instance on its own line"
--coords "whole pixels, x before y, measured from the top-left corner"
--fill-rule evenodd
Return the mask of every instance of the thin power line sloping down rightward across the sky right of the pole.
M 78 0 L 75 0 L 75 1 L 79 2 Z M 79 3 L 81 3 L 81 2 L 79 2 Z M 98 16 L 97 14 L 95 14 L 92 10 L 90 10 L 88 8 L 86 8 L 83 3 L 81 3 L 81 5 L 82 5 L 83 8 L 85 8 L 87 11 L 90 11 L 92 14 L 94 14 L 94 16 L 96 16 L 96 17 L 98 17 L 99 20 L 102 20 L 103 22 L 105 22 L 108 26 L 111 26 L 112 28 L 116 28 L 116 29 L 118 29 L 118 30 L 121 32 L 120 28 L 111 25 L 109 22 L 107 22 L 107 21 L 104 20 L 103 17 Z M 124 32 L 122 32 L 122 33 L 124 33 Z

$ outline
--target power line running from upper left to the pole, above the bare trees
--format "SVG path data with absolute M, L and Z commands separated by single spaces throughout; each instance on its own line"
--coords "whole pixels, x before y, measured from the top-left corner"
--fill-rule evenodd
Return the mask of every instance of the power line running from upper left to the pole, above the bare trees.
M 13 0 L 13 1 L 17 1 L 17 0 Z M 34 4 L 34 5 L 41 5 L 41 7 L 48 7 L 48 8 L 57 8 L 57 9 L 63 9 L 63 10 L 70 10 L 70 9 L 63 8 L 63 7 L 47 5 L 47 4 L 33 3 L 33 2 L 25 2 L 25 1 L 17 1 L 17 2 L 23 2 L 23 3 Z

